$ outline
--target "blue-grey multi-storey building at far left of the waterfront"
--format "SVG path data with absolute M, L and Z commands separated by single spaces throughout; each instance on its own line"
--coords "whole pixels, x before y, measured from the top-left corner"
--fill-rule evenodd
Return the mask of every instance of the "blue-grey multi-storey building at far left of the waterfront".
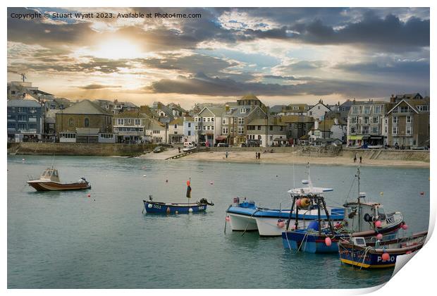
M 27 142 L 42 139 L 42 106 L 35 99 L 9 99 L 7 103 L 8 141 Z

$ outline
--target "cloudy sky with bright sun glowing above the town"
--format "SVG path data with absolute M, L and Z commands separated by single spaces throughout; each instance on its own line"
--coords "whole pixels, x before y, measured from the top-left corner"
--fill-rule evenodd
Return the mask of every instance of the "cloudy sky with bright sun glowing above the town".
M 49 18 L 13 17 L 35 11 Z M 429 8 L 8 8 L 8 82 L 185 108 L 247 93 L 269 106 L 429 95 L 429 39 Z

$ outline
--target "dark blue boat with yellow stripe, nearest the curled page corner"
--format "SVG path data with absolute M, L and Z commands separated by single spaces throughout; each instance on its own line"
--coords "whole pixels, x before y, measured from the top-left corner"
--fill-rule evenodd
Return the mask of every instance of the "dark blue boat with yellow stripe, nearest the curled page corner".
M 340 261 L 344 264 L 359 266 L 360 269 L 381 269 L 394 267 L 400 255 L 417 252 L 423 247 L 428 231 L 414 233 L 410 237 L 395 240 L 366 242 L 362 237 L 342 240 L 338 243 Z

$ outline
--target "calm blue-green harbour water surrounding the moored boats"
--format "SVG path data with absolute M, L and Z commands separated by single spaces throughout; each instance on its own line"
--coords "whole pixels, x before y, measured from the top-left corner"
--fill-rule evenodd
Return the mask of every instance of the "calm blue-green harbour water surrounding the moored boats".
M 50 156 L 8 156 L 8 288 L 365 288 L 392 273 L 342 266 L 338 254 L 296 253 L 281 238 L 242 237 L 229 226 L 223 233 L 235 196 L 290 204 L 290 165 L 56 156 L 61 181 L 83 176 L 92 190 L 35 192 L 25 185 L 27 175 L 38 177 L 50 165 Z M 305 171 L 295 166 L 297 186 Z M 313 165 L 311 175 L 315 186 L 334 188 L 326 199 L 337 206 L 355 171 Z M 142 214 L 148 195 L 187 202 L 190 177 L 192 200 L 215 204 L 206 214 Z M 402 211 L 408 233 L 428 229 L 429 168 L 363 167 L 361 185 L 367 200 Z

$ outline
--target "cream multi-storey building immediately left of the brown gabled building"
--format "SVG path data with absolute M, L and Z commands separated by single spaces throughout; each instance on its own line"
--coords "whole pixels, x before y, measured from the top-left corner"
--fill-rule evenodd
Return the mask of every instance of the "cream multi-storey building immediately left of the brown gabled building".
M 387 142 L 384 135 L 386 101 L 355 101 L 347 116 L 347 146 L 383 146 Z

